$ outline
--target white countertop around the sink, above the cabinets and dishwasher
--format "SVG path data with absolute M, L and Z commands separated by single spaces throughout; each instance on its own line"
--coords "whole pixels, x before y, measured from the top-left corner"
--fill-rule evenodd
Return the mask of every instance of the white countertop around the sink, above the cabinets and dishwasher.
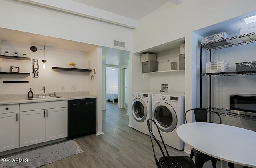
M 25 100 L 26 94 L 9 94 L 0 95 L 0 105 L 3 104 L 21 104 L 21 103 L 32 103 L 32 102 L 51 102 L 61 100 L 72 100 L 72 99 L 83 99 L 83 98 L 97 98 L 95 95 L 90 95 L 88 92 L 60 92 L 56 96 L 63 98 L 49 98 L 49 99 L 38 99 L 38 100 Z M 36 97 L 36 96 L 34 96 Z

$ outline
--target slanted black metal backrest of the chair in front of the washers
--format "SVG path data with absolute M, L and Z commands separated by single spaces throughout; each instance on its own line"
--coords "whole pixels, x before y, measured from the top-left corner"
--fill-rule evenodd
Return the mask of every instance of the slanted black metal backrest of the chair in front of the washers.
M 156 122 L 150 118 L 150 119 L 147 120 L 147 125 L 148 125 L 148 131 L 149 131 L 149 134 L 150 134 L 150 140 L 151 140 L 151 144 L 152 144 L 152 148 L 153 148 L 153 152 L 154 152 L 154 158 L 155 158 L 157 167 L 159 168 L 160 165 L 159 165 L 159 162 L 158 162 L 158 158 L 156 158 L 156 152 L 155 152 L 153 140 L 156 142 L 156 144 L 158 145 L 159 149 L 161 150 L 161 153 L 162 153 L 162 156 L 164 157 L 165 162 L 167 163 L 167 165 L 169 165 L 169 164 L 168 164 L 168 161 L 167 161 L 167 159 L 166 159 L 166 156 L 170 156 L 170 155 L 169 155 L 169 153 L 168 153 L 168 151 L 167 151 L 167 148 L 166 148 L 166 146 L 165 146 L 165 144 L 164 144 L 164 140 L 163 140 L 163 138 L 162 138 L 162 135 L 161 135 L 161 133 L 160 133 L 160 130 L 159 130 L 159 128 L 158 128 Z M 159 143 L 159 141 L 158 141 L 158 140 L 156 139 L 156 137 L 154 136 L 154 134 L 153 134 L 153 132 L 152 132 L 152 129 L 151 129 L 151 126 L 152 126 L 152 127 L 155 126 L 155 127 L 157 128 L 158 134 L 160 135 L 160 138 L 161 138 L 161 140 L 162 140 L 162 142 L 163 142 L 163 146 L 164 146 L 166 155 L 164 154 L 164 150 L 162 149 L 161 144 Z

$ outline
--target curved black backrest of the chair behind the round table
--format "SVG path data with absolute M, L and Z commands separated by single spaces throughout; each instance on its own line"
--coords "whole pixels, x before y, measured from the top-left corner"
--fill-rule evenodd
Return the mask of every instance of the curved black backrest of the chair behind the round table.
M 220 119 L 220 124 L 221 124 L 221 117 L 220 114 L 218 114 L 217 112 L 213 111 L 213 110 L 209 110 L 209 109 L 205 109 L 205 108 L 192 108 L 188 111 L 185 112 L 185 121 L 187 122 L 187 118 L 186 118 L 186 114 L 187 112 L 193 112 L 194 111 L 194 116 L 195 116 L 195 120 L 196 122 L 208 122 L 207 121 L 207 113 L 209 114 L 216 114 L 219 119 Z

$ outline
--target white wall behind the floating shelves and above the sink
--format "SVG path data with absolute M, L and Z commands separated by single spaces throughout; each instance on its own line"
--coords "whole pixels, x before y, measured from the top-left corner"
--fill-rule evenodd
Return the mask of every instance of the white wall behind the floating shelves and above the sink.
M 44 48 L 44 46 L 37 46 Z M 45 59 L 47 60 L 47 69 L 42 69 L 41 64 L 44 58 L 44 50 L 32 52 L 30 44 L 14 43 L 2 41 L 2 50 L 9 51 L 9 55 L 13 55 L 14 51 L 18 52 L 18 56 L 23 53 L 31 58 L 31 61 L 1 59 L 1 72 L 10 72 L 10 66 L 20 67 L 20 73 L 30 73 L 26 75 L 7 75 L 1 74 L 0 77 L 0 93 L 1 94 L 26 94 L 30 88 L 35 93 L 42 93 L 42 86 L 46 87 L 46 92 L 61 92 L 61 86 L 65 87 L 65 92 L 71 91 L 88 91 L 88 72 L 72 72 L 72 71 L 53 71 L 52 66 L 69 68 L 69 62 L 75 62 L 76 68 L 90 69 L 89 57 L 87 52 L 78 52 L 72 50 L 63 50 L 47 47 L 45 49 Z M 32 59 L 39 60 L 38 78 L 33 78 Z M 2 81 L 9 80 L 28 80 L 29 83 L 3 84 Z M 76 90 L 71 90 L 71 85 L 76 85 Z

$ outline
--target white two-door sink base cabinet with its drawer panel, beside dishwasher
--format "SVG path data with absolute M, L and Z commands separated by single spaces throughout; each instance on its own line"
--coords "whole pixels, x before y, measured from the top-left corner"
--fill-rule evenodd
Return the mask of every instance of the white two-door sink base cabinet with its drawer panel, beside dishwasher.
M 20 147 L 67 137 L 67 101 L 20 104 Z

